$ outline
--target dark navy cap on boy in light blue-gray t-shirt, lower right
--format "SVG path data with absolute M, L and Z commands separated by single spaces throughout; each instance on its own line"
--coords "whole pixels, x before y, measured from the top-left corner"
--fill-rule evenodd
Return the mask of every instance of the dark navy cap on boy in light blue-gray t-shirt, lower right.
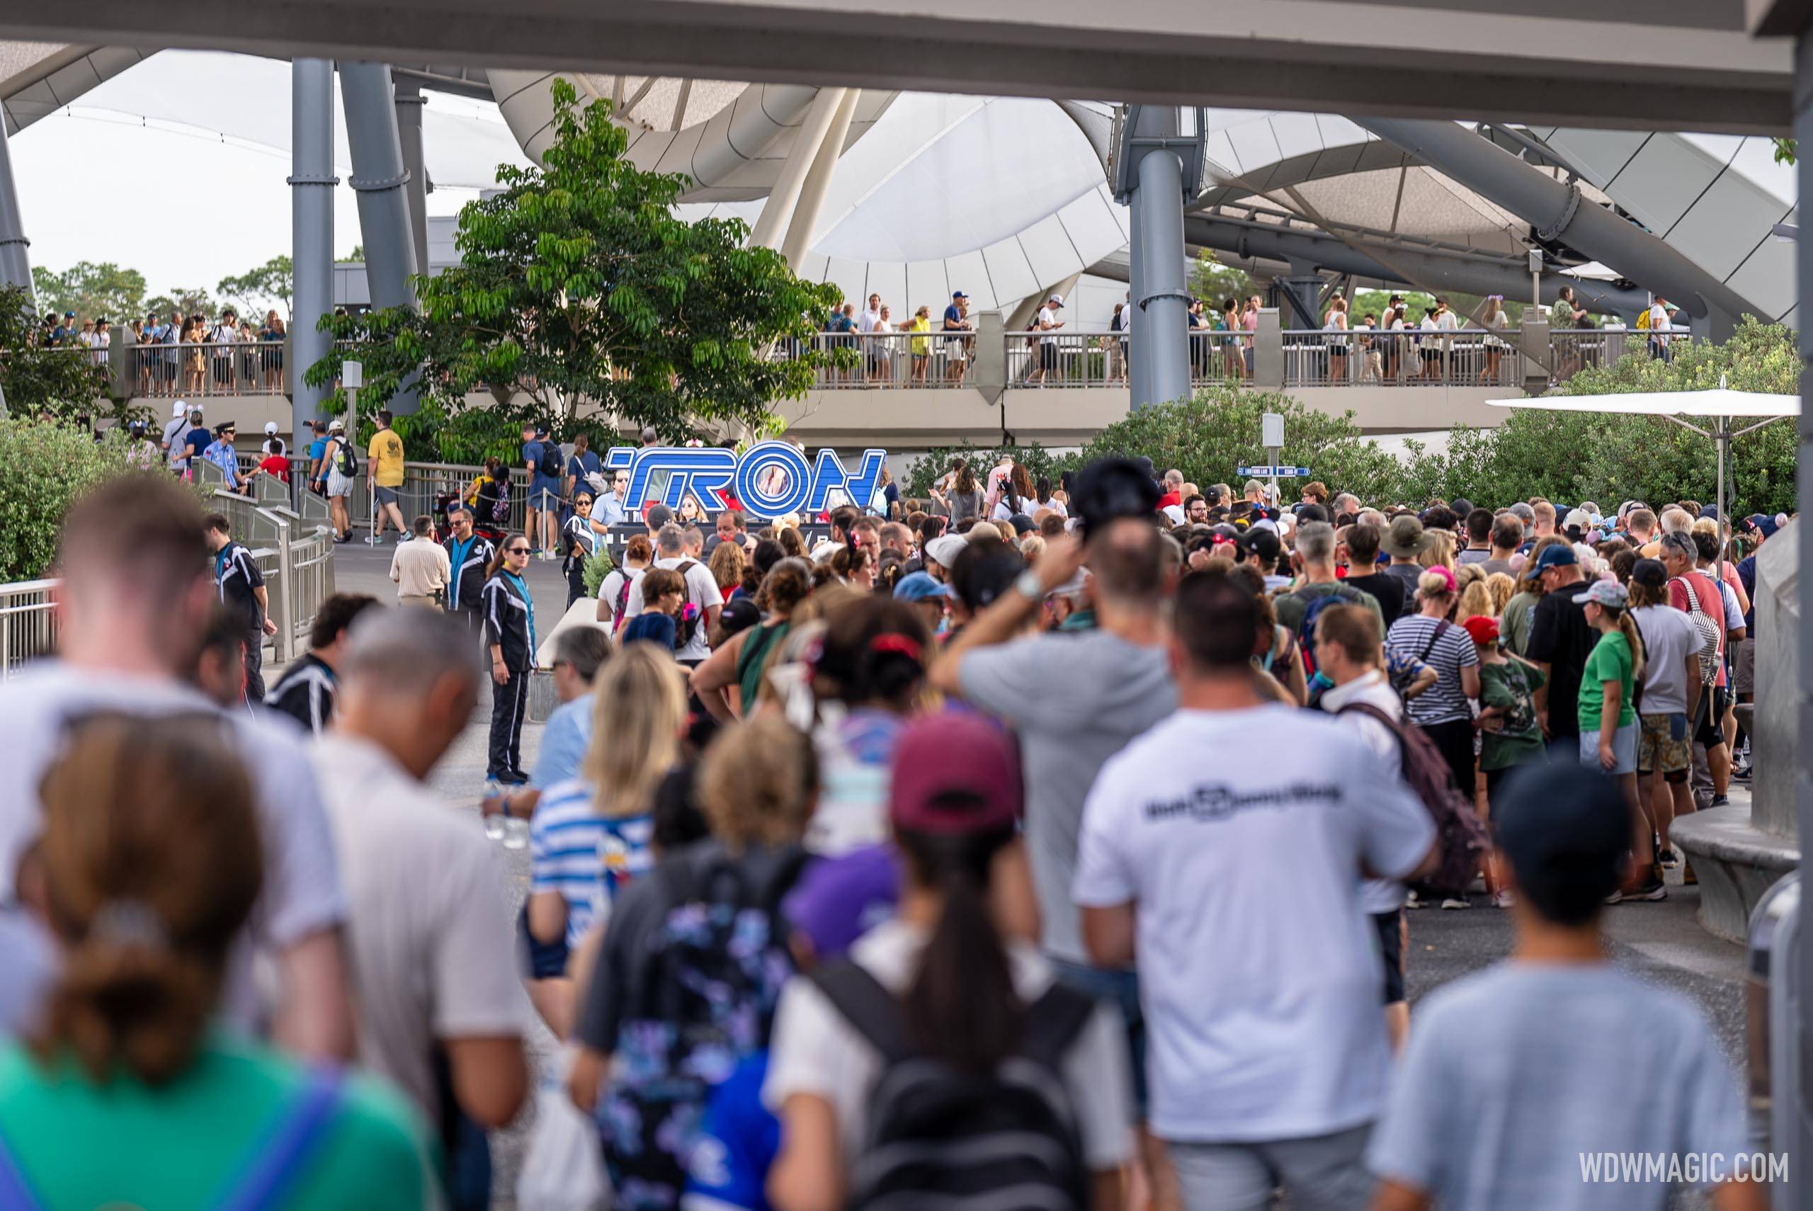
M 1630 857 L 1630 809 L 1617 781 L 1556 761 L 1517 769 L 1505 789 L 1492 827 L 1525 901 L 1556 925 L 1592 921 Z

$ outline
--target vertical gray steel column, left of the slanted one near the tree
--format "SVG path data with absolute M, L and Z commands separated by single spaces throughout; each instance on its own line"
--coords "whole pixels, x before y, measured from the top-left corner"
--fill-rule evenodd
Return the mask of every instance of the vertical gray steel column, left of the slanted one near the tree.
M 301 446 L 308 422 L 325 417 L 325 388 L 303 373 L 326 357 L 328 334 L 317 325 L 334 306 L 334 63 L 299 58 L 290 63 L 290 437 Z M 294 477 L 301 482 L 301 475 Z

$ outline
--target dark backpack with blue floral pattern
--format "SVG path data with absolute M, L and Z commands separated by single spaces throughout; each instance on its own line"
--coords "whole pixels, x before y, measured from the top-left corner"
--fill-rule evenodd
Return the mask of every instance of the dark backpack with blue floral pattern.
M 765 894 L 722 850 L 685 850 L 644 876 L 660 916 L 633 959 L 615 1073 L 596 1109 L 620 1206 L 649 1206 L 629 1198 L 638 1189 L 678 1202 L 713 1088 L 769 1044 L 792 975 L 780 899 L 805 857 L 789 850 Z

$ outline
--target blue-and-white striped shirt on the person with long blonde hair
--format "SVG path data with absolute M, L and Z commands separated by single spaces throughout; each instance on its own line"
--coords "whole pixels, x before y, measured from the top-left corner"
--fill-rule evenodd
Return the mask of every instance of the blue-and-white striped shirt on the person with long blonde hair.
M 529 894 L 558 892 L 567 905 L 567 946 L 633 877 L 654 868 L 651 816 L 598 816 L 591 783 L 578 778 L 542 792 L 529 821 Z

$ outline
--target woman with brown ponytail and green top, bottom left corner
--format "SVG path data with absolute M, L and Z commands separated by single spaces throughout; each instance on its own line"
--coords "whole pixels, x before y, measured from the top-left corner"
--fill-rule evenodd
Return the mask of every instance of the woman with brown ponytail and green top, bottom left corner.
M 218 1026 L 267 863 L 221 732 L 100 714 L 60 738 L 18 888 L 62 954 L 33 1033 L 0 1046 L 0 1206 L 442 1202 L 393 1091 Z

